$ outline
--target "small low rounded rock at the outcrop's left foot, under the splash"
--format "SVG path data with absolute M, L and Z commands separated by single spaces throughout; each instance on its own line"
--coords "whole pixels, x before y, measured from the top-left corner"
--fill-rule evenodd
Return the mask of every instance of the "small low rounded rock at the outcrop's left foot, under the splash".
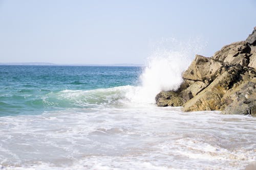
M 157 106 L 182 106 L 184 100 L 176 91 L 162 91 L 156 96 Z

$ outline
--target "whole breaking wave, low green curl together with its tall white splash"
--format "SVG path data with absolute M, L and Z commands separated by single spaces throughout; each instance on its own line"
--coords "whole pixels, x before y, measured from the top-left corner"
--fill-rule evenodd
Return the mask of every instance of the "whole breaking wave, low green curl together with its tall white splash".
M 63 90 L 44 98 L 47 105 L 58 107 L 93 107 L 123 102 L 154 104 L 160 91 L 177 90 L 182 83 L 182 72 L 196 53 L 201 51 L 200 40 L 180 42 L 164 39 L 153 47 L 139 77 L 138 86 L 119 86 L 95 90 Z M 201 43 L 200 43 L 201 44 Z

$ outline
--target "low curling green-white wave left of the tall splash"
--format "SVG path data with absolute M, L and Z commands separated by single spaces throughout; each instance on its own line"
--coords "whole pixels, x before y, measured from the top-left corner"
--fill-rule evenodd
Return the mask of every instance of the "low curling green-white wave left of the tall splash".
M 127 91 L 134 86 L 119 86 L 95 90 L 62 90 L 52 92 L 44 97 L 44 103 L 56 107 L 98 107 L 120 104 L 125 99 Z

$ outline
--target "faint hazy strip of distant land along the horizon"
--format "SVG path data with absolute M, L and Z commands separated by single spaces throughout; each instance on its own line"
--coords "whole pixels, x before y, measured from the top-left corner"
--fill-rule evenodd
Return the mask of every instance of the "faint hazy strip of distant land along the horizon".
M 55 63 L 44 63 L 44 62 L 3 62 L 0 65 L 67 65 L 67 66 L 143 66 L 143 64 L 55 64 Z

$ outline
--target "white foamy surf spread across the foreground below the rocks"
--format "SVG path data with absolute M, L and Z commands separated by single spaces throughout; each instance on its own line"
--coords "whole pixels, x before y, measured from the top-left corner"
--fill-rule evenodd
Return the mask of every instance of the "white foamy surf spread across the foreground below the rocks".
M 256 119 L 154 105 L 0 120 L 2 169 L 242 169 Z

